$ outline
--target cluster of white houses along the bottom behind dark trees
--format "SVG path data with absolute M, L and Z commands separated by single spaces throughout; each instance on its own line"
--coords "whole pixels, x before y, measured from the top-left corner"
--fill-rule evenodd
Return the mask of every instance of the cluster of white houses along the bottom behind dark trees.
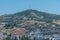
M 31 31 L 30 33 L 19 35 L 19 34 L 13 34 L 11 35 L 12 39 L 17 38 L 17 40 L 22 40 L 22 37 L 28 37 L 30 40 L 60 40 L 60 34 L 53 34 L 53 35 L 43 35 L 39 30 L 36 30 L 35 32 Z M 0 39 L 6 38 L 7 35 L 3 35 L 3 33 L 0 33 Z

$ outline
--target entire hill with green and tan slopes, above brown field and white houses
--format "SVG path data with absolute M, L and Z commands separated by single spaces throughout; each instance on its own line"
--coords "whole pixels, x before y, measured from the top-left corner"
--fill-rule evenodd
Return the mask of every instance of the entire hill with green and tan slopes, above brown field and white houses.
M 55 20 L 58 21 L 55 22 Z M 5 25 L 4 29 L 13 30 L 14 28 L 22 28 L 28 31 L 35 31 L 36 29 L 40 29 L 43 34 L 59 33 L 59 21 L 60 15 L 50 14 L 47 12 L 41 12 L 32 9 L 15 14 L 0 16 L 0 23 L 3 23 Z

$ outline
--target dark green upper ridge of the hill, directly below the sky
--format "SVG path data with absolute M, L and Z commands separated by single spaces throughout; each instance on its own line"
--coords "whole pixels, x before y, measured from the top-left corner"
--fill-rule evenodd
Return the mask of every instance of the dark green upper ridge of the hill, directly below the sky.
M 11 15 L 0 16 L 0 22 L 19 21 L 23 18 L 44 18 L 44 20 L 60 19 L 60 15 L 49 14 L 46 12 L 40 12 L 37 10 L 25 10 Z

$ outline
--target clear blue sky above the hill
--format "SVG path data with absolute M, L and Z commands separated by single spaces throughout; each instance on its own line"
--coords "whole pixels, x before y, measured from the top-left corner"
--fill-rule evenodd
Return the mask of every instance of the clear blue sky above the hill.
M 60 0 L 0 0 L 0 15 L 27 9 L 60 15 Z

